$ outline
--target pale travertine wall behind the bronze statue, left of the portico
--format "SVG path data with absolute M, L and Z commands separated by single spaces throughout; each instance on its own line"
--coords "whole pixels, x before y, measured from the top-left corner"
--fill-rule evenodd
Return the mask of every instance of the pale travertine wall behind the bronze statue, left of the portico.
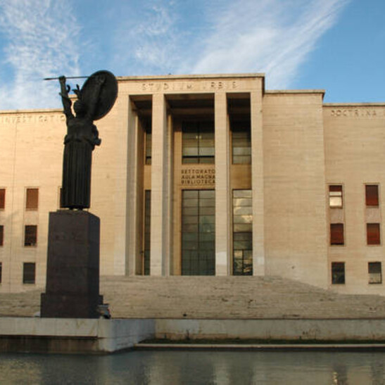
M 127 108 L 118 101 L 96 122 L 102 144 L 93 153 L 90 211 L 102 218 L 101 274 L 125 274 Z M 119 112 L 119 113 L 118 113 Z M 126 120 L 127 122 L 127 120 Z M 6 189 L 0 291 L 44 287 L 48 213 L 59 208 L 65 117 L 61 110 L 0 114 L 0 188 Z M 25 209 L 25 191 L 39 189 L 37 210 Z M 24 246 L 24 226 L 37 225 L 37 245 Z M 36 284 L 22 284 L 23 263 L 36 263 Z

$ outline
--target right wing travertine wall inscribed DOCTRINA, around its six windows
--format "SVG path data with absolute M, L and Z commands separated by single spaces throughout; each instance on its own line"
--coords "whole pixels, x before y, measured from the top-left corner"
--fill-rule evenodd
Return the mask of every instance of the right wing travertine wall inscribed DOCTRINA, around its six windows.
M 384 274 L 385 104 L 325 105 L 324 138 L 326 182 L 343 186 L 345 244 L 328 246 L 328 270 L 332 262 L 344 262 L 346 283 L 332 288 L 384 295 L 384 284 L 369 284 L 367 263 L 381 262 Z M 379 184 L 378 208 L 366 208 L 365 184 Z M 328 217 L 339 210 L 328 210 Z M 367 222 L 381 224 L 380 245 L 367 246 Z

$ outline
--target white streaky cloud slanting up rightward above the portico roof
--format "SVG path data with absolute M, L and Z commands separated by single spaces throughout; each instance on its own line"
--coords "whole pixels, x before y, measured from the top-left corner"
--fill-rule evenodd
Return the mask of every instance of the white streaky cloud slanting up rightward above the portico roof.
M 265 72 L 286 88 L 348 0 L 238 0 L 213 13 L 201 51 L 178 72 Z M 218 6 L 219 4 L 215 4 Z M 220 9 L 220 8 L 217 8 Z

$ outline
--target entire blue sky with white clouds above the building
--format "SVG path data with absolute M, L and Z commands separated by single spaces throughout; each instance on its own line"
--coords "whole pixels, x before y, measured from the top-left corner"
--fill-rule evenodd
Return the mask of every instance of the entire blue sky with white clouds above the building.
M 0 110 L 60 107 L 44 77 L 101 69 L 264 72 L 267 89 L 385 101 L 384 15 L 384 0 L 0 0 Z

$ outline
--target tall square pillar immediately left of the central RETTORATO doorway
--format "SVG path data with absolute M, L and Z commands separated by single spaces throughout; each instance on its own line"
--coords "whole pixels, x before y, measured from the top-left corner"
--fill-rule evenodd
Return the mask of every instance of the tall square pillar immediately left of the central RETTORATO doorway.
M 166 258 L 170 251 L 168 120 L 164 94 L 153 95 L 151 154 L 151 275 L 168 275 Z

